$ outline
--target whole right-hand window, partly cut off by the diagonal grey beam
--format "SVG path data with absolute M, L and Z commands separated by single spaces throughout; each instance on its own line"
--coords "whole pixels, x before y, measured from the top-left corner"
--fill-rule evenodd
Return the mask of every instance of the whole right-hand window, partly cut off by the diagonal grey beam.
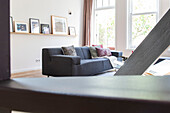
M 129 0 L 128 48 L 136 48 L 158 21 L 158 0 Z

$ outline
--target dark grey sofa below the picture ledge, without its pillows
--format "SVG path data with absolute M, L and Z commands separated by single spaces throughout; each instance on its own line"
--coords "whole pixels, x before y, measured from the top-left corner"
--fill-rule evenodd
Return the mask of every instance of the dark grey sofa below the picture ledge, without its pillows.
M 106 58 L 91 58 L 88 47 L 76 47 L 78 56 L 63 55 L 61 48 L 42 50 L 42 73 L 47 76 L 90 76 L 112 69 Z M 122 52 L 112 51 L 121 60 Z

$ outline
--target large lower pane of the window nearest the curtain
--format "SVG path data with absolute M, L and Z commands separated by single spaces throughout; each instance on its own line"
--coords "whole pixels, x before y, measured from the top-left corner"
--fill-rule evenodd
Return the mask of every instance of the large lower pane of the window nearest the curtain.
M 96 11 L 96 44 L 115 47 L 115 10 Z

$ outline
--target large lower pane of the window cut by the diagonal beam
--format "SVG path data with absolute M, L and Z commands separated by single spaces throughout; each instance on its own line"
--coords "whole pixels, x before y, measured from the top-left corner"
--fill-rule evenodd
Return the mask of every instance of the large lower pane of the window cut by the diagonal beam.
M 136 48 L 156 25 L 156 14 L 137 15 L 132 17 L 132 45 Z

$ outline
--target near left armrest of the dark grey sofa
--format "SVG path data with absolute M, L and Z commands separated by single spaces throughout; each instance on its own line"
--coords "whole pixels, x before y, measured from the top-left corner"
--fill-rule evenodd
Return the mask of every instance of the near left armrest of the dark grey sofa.
M 53 55 L 53 56 L 51 56 L 52 61 L 58 61 L 58 62 L 74 64 L 74 65 L 80 65 L 80 59 L 81 59 L 80 56 L 68 56 L 68 55 Z

